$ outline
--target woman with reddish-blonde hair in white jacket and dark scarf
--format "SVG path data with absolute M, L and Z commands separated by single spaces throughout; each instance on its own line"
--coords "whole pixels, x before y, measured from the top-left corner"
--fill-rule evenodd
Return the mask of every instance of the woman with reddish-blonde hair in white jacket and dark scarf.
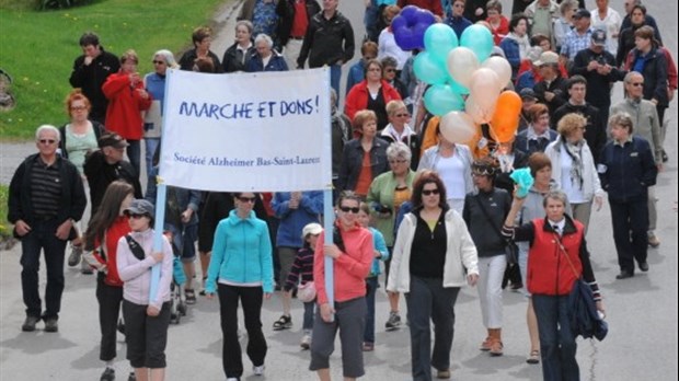
M 573 218 L 583 222 L 585 233 L 589 226 L 592 200 L 597 210 L 603 203 L 603 189 L 595 166 L 594 155 L 585 140 L 587 119 L 579 114 L 567 114 L 559 120 L 559 138 L 544 153 L 552 161 L 552 180 L 556 188 L 568 197 Z

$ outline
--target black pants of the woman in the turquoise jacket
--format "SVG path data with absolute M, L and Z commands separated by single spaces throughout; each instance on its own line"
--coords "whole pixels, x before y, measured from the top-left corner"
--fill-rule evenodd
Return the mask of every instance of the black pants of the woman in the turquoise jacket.
M 241 344 L 238 340 L 238 302 L 243 304 L 248 331 L 248 357 L 255 367 L 264 365 L 266 338 L 262 332 L 262 287 L 218 285 L 219 315 L 223 335 L 221 361 L 227 378 L 243 374 Z

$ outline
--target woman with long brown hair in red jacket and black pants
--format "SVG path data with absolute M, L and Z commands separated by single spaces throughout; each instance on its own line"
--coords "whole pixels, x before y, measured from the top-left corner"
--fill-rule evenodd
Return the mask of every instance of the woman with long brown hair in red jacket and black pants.
M 135 188 L 126 182 L 115 181 L 108 185 L 102 204 L 90 220 L 85 233 L 84 259 L 96 267 L 96 301 L 99 326 L 102 332 L 100 359 L 106 363 L 101 380 L 113 381 L 116 356 L 116 327 L 123 302 L 123 280 L 118 276 L 116 251 L 118 240 L 129 231 L 128 218 L 123 211 L 135 198 Z

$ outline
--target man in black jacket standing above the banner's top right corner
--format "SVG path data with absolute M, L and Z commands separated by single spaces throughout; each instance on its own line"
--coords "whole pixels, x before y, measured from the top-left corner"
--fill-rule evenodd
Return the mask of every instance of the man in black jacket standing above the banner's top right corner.
M 347 18 L 337 11 L 340 0 L 323 0 L 323 11 L 317 13 L 307 27 L 297 67 L 303 68 L 309 58 L 310 68 L 330 66 L 330 83 L 340 94 L 342 65 L 354 57 L 354 28 Z

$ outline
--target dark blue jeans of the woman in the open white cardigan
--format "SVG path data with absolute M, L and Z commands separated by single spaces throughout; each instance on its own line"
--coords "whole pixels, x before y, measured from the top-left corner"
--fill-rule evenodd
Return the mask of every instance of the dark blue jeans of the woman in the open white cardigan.
M 414 381 L 430 381 L 431 367 L 450 369 L 450 350 L 454 334 L 454 302 L 459 287 L 444 288 L 441 278 L 411 275 L 411 291 L 405 293 L 411 326 L 411 362 Z M 431 328 L 434 322 L 434 350 Z

